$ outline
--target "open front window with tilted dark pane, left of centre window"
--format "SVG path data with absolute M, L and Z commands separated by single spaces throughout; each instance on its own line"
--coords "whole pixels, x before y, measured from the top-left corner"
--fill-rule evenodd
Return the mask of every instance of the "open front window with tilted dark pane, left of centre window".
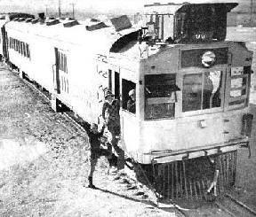
M 145 75 L 145 119 L 173 118 L 177 101 L 176 74 Z

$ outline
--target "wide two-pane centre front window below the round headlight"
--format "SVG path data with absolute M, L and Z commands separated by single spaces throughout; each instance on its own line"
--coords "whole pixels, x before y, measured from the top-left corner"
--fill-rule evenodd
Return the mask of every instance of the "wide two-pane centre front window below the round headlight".
M 182 112 L 220 107 L 221 79 L 221 71 L 184 75 Z

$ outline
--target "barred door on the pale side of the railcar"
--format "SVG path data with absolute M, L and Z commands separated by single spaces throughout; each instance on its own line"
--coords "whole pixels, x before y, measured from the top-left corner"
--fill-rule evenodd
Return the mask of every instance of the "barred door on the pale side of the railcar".
M 58 94 L 68 94 L 68 64 L 65 50 L 55 48 L 56 70 L 54 72 L 54 86 Z

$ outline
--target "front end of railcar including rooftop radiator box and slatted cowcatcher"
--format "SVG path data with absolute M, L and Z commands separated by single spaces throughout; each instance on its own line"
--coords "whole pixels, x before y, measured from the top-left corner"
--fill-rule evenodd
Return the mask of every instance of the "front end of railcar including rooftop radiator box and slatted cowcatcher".
M 125 141 L 127 151 L 153 165 L 165 198 L 217 194 L 234 185 L 237 149 L 252 132 L 252 52 L 225 41 L 236 4 L 146 6 L 154 12 L 139 39 L 140 141 Z

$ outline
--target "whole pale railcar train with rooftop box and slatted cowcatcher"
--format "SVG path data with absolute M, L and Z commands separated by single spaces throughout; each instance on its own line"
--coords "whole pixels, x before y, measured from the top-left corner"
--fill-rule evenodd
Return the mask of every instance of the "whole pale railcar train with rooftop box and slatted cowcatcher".
M 150 167 L 158 194 L 203 198 L 234 185 L 252 131 L 252 51 L 226 40 L 236 5 L 146 4 L 137 23 L 21 14 L 1 20 L 1 57 L 45 89 L 56 112 L 100 123 L 111 90 L 122 148 Z M 127 109 L 132 89 L 136 112 Z

